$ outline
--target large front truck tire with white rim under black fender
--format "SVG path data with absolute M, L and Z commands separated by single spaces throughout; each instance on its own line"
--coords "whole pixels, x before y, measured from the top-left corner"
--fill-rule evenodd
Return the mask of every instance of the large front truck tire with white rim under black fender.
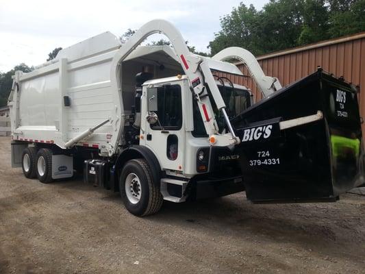
M 119 190 L 125 208 L 136 216 L 158 212 L 162 206 L 160 185 L 153 184 L 149 164 L 144 159 L 129 160 L 119 178 Z

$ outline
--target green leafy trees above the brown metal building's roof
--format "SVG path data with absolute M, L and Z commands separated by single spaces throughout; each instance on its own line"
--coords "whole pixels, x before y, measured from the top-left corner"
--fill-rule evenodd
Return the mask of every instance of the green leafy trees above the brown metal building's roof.
M 257 11 L 240 3 L 221 18 L 212 54 L 237 46 L 255 55 L 365 30 L 365 0 L 270 0 Z

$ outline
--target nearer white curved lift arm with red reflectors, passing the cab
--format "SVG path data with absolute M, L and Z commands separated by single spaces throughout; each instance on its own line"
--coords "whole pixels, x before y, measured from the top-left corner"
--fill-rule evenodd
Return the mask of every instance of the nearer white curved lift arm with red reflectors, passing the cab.
M 121 69 L 121 62 L 123 62 L 129 53 L 136 49 L 144 39 L 155 33 L 163 33 L 171 41 L 177 59 L 189 79 L 190 90 L 192 90 L 199 105 L 199 112 L 203 119 L 205 130 L 210 136 L 211 145 L 227 146 L 238 144 L 240 139 L 236 137 L 234 129 L 231 126 L 227 112 L 225 111 L 225 102 L 218 90 L 218 86 L 216 86 L 210 67 L 203 58 L 199 58 L 199 56 L 190 53 L 179 30 L 168 21 L 153 20 L 138 29 L 136 34 L 129 38 L 121 49 L 119 49 L 118 53 L 116 53 L 116 56 L 113 59 L 112 68 L 116 67 L 117 69 L 116 72 L 112 72 L 112 77 L 118 82 L 117 77 L 119 75 L 119 70 Z M 216 124 L 212 103 L 210 102 L 210 97 L 208 96 L 207 88 L 205 88 L 205 86 L 209 87 L 210 94 L 212 95 L 218 110 L 223 112 L 229 134 L 218 134 L 218 126 Z M 118 86 L 118 88 L 120 89 L 121 87 Z

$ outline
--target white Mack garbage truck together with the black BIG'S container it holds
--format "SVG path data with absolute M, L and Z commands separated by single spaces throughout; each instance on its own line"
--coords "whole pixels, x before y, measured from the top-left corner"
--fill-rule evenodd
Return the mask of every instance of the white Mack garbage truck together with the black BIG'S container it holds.
M 171 47 L 140 45 L 155 33 Z M 262 101 L 231 81 L 245 76 L 231 60 Z M 42 183 L 83 172 L 137 216 L 244 190 L 254 203 L 336 201 L 364 182 L 356 88 L 322 69 L 282 88 L 249 51 L 191 53 L 164 20 L 124 44 L 89 38 L 13 78 L 12 166 Z

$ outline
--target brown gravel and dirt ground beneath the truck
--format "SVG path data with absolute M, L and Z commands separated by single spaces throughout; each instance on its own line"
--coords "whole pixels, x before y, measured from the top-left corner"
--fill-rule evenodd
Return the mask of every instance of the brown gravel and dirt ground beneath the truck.
M 243 193 L 125 210 L 81 177 L 41 184 L 0 137 L 0 273 L 365 273 L 365 197 L 253 205 Z

